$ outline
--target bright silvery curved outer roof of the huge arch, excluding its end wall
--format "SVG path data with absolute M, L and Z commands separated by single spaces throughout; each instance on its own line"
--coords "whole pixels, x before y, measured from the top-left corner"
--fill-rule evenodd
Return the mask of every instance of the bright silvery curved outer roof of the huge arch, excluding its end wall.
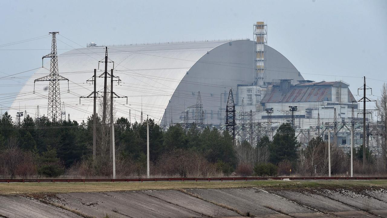
M 191 42 L 191 43 L 164 43 L 149 45 L 130 45 L 108 47 L 108 57 L 114 61 L 115 76 L 120 76 L 122 83 L 114 87 L 114 92 L 128 96 L 126 99 L 115 99 L 117 116 L 128 117 L 132 109 L 132 119 L 139 121 L 141 111 L 141 98 L 143 111 L 147 111 L 150 118 L 158 120 L 162 114 L 153 114 L 160 108 L 165 108 L 174 89 L 182 80 L 188 69 L 211 49 L 229 41 Z M 70 93 L 67 93 L 67 84 L 61 81 L 61 101 L 65 102 L 66 114 L 71 119 L 81 121 L 92 113 L 92 98 L 81 99 L 93 91 L 93 86 L 86 83 L 98 68 L 97 75 L 103 73 L 104 47 L 89 47 L 70 50 L 58 56 L 58 66 L 61 76 L 68 78 Z M 39 106 L 41 115 L 47 111 L 48 82 L 37 82 L 34 90 L 34 80 L 49 74 L 50 62 L 45 68 L 34 73 L 21 89 L 14 100 L 10 113 L 26 109 L 30 116 L 35 115 Z M 108 64 L 108 71 L 113 64 Z M 108 81 L 110 84 L 110 80 Z M 116 83 L 115 83 L 116 84 Z M 97 89 L 103 89 L 103 78 L 97 78 Z M 155 110 L 155 108 L 158 108 Z M 163 109 L 162 109 L 163 111 Z M 146 116 L 144 114 L 144 116 Z

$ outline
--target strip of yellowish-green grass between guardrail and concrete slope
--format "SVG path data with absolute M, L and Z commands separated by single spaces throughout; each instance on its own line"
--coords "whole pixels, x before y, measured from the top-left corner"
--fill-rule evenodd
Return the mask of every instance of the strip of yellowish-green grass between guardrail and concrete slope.
M 387 180 L 350 181 L 247 181 L 247 182 L 46 182 L 0 183 L 0 195 L 57 194 L 68 192 L 113 192 L 160 189 L 228 189 L 228 188 L 387 188 Z

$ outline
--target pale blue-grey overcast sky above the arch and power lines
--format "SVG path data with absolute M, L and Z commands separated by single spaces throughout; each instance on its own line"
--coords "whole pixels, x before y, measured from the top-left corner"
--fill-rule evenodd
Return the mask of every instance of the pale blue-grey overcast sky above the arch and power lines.
M 90 42 L 251 39 L 253 23 L 265 21 L 267 44 L 306 80 L 343 80 L 356 99 L 361 98 L 356 95 L 363 76 L 373 91 L 370 99 L 377 99 L 387 82 L 385 0 L 1 0 L 0 14 L 3 112 L 12 104 L 12 93 L 17 94 L 36 71 L 30 70 L 40 67 L 41 57 L 50 53 L 52 31 L 60 32 L 61 54 Z M 47 37 L 7 45 L 39 36 Z M 8 76 L 12 74 L 17 75 Z

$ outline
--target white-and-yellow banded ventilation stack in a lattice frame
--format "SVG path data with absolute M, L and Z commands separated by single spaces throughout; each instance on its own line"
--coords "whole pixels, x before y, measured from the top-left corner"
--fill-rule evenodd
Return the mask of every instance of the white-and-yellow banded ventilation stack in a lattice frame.
M 266 81 L 266 51 L 265 44 L 267 44 L 267 24 L 265 22 L 257 22 L 254 24 L 254 51 L 255 51 L 255 64 L 254 64 L 254 82 L 253 85 L 260 87 L 267 87 Z

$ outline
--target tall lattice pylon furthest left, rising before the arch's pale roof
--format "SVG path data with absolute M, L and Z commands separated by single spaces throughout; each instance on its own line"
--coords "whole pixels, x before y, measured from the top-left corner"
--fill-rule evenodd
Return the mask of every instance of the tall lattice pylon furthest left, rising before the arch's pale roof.
M 59 81 L 67 80 L 67 84 L 68 84 L 68 79 L 64 78 L 63 76 L 60 76 L 59 70 L 58 70 L 57 37 L 56 37 L 58 33 L 59 32 L 50 33 L 52 35 L 51 53 L 42 57 L 42 65 L 43 65 L 44 58 L 46 57 L 51 58 L 50 75 L 43 76 L 41 78 L 34 80 L 34 83 L 36 81 L 50 81 L 49 88 L 48 88 L 47 117 L 53 122 L 57 121 L 57 119 L 60 119 L 62 116 L 62 111 L 60 108 Z M 67 90 L 67 92 L 69 91 L 70 90 Z

